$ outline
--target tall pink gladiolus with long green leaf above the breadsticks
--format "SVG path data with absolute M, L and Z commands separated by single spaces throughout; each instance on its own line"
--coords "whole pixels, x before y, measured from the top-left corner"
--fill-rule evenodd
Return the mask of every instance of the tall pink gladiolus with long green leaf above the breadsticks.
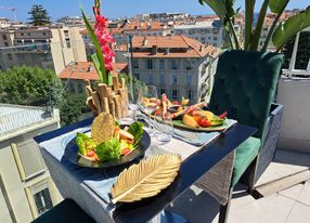
M 112 44 L 115 42 L 112 34 L 107 29 L 108 19 L 101 15 L 100 0 L 94 0 L 93 14 L 95 16 L 94 28 L 90 25 L 85 11 L 81 8 L 82 17 L 95 48 L 95 53 L 91 55 L 94 67 L 99 74 L 100 81 L 112 86 L 113 58 L 115 52 Z

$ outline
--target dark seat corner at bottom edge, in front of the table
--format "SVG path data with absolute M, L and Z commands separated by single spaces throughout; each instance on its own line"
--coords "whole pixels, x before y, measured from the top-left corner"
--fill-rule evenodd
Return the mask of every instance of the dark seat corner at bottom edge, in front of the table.
M 74 200 L 65 199 L 33 223 L 95 223 Z

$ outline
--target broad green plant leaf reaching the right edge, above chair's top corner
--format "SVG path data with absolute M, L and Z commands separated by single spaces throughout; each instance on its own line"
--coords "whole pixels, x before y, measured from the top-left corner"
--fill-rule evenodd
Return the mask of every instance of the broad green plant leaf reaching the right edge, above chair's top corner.
M 282 22 L 272 36 L 272 42 L 279 50 L 297 32 L 310 26 L 310 6 L 303 12 L 293 15 L 288 19 Z

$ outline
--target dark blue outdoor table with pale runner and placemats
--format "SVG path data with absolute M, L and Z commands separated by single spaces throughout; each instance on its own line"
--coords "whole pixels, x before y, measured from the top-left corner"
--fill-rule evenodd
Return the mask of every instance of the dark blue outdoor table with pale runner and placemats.
M 114 205 L 107 202 L 108 197 L 105 196 L 109 192 L 105 192 L 106 186 L 102 187 L 102 184 L 109 184 L 108 188 L 113 185 L 114 181 L 106 179 L 108 170 L 78 167 L 64 157 L 67 141 L 73 139 L 76 132 L 89 129 L 91 122 L 92 119 L 86 119 L 38 135 L 35 140 L 41 147 L 46 165 L 61 195 L 75 200 L 96 222 L 117 223 L 154 222 L 160 211 L 257 131 L 256 128 L 234 123 L 224 132 L 208 134 L 210 139 L 205 145 L 192 145 L 179 140 L 180 137 L 172 137 L 169 143 L 157 145 L 152 139 L 145 157 L 158 154 L 157 149 L 162 153 L 179 154 L 182 163 L 178 176 L 173 183 L 154 197 Z M 156 148 L 155 154 L 154 148 Z M 124 169 L 124 167 L 115 169 L 117 168 Z M 116 172 L 120 171 L 121 169 Z M 103 175 L 105 175 L 104 179 Z M 116 176 L 114 171 L 111 179 Z

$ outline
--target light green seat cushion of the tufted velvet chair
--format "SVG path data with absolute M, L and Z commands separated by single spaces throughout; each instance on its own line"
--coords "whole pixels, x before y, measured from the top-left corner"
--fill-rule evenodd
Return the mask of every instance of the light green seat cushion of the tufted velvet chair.
M 246 171 L 247 167 L 258 155 L 260 147 L 260 140 L 257 137 L 249 137 L 244 141 L 235 152 L 232 186 L 234 186 L 242 174 Z

